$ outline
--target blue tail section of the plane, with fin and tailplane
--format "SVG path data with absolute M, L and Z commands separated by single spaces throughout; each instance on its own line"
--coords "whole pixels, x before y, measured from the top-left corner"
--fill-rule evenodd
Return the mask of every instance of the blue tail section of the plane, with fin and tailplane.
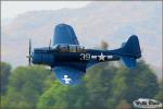
M 129 37 L 127 43 L 122 44 L 122 48 L 117 49 L 122 62 L 129 69 L 136 66 L 136 59 L 141 57 L 139 39 L 136 35 Z

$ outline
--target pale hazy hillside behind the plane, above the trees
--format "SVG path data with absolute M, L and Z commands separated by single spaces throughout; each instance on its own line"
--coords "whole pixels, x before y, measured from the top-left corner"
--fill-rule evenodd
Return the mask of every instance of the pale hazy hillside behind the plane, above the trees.
M 161 2 L 90 2 L 78 9 L 29 11 L 1 22 L 1 57 L 13 66 L 27 64 L 29 38 L 33 47 L 48 46 L 54 26 L 67 23 L 87 48 L 99 46 L 101 40 L 106 40 L 110 49 L 118 48 L 130 35 L 138 35 L 142 58 L 161 76 Z

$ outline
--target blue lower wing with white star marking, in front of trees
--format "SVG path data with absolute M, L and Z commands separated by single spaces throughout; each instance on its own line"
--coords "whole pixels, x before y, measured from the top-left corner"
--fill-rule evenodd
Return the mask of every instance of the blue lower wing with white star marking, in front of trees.
M 70 66 L 54 66 L 52 70 L 55 73 L 57 78 L 63 85 L 79 84 L 82 82 L 83 75 L 85 74 L 85 72 Z

